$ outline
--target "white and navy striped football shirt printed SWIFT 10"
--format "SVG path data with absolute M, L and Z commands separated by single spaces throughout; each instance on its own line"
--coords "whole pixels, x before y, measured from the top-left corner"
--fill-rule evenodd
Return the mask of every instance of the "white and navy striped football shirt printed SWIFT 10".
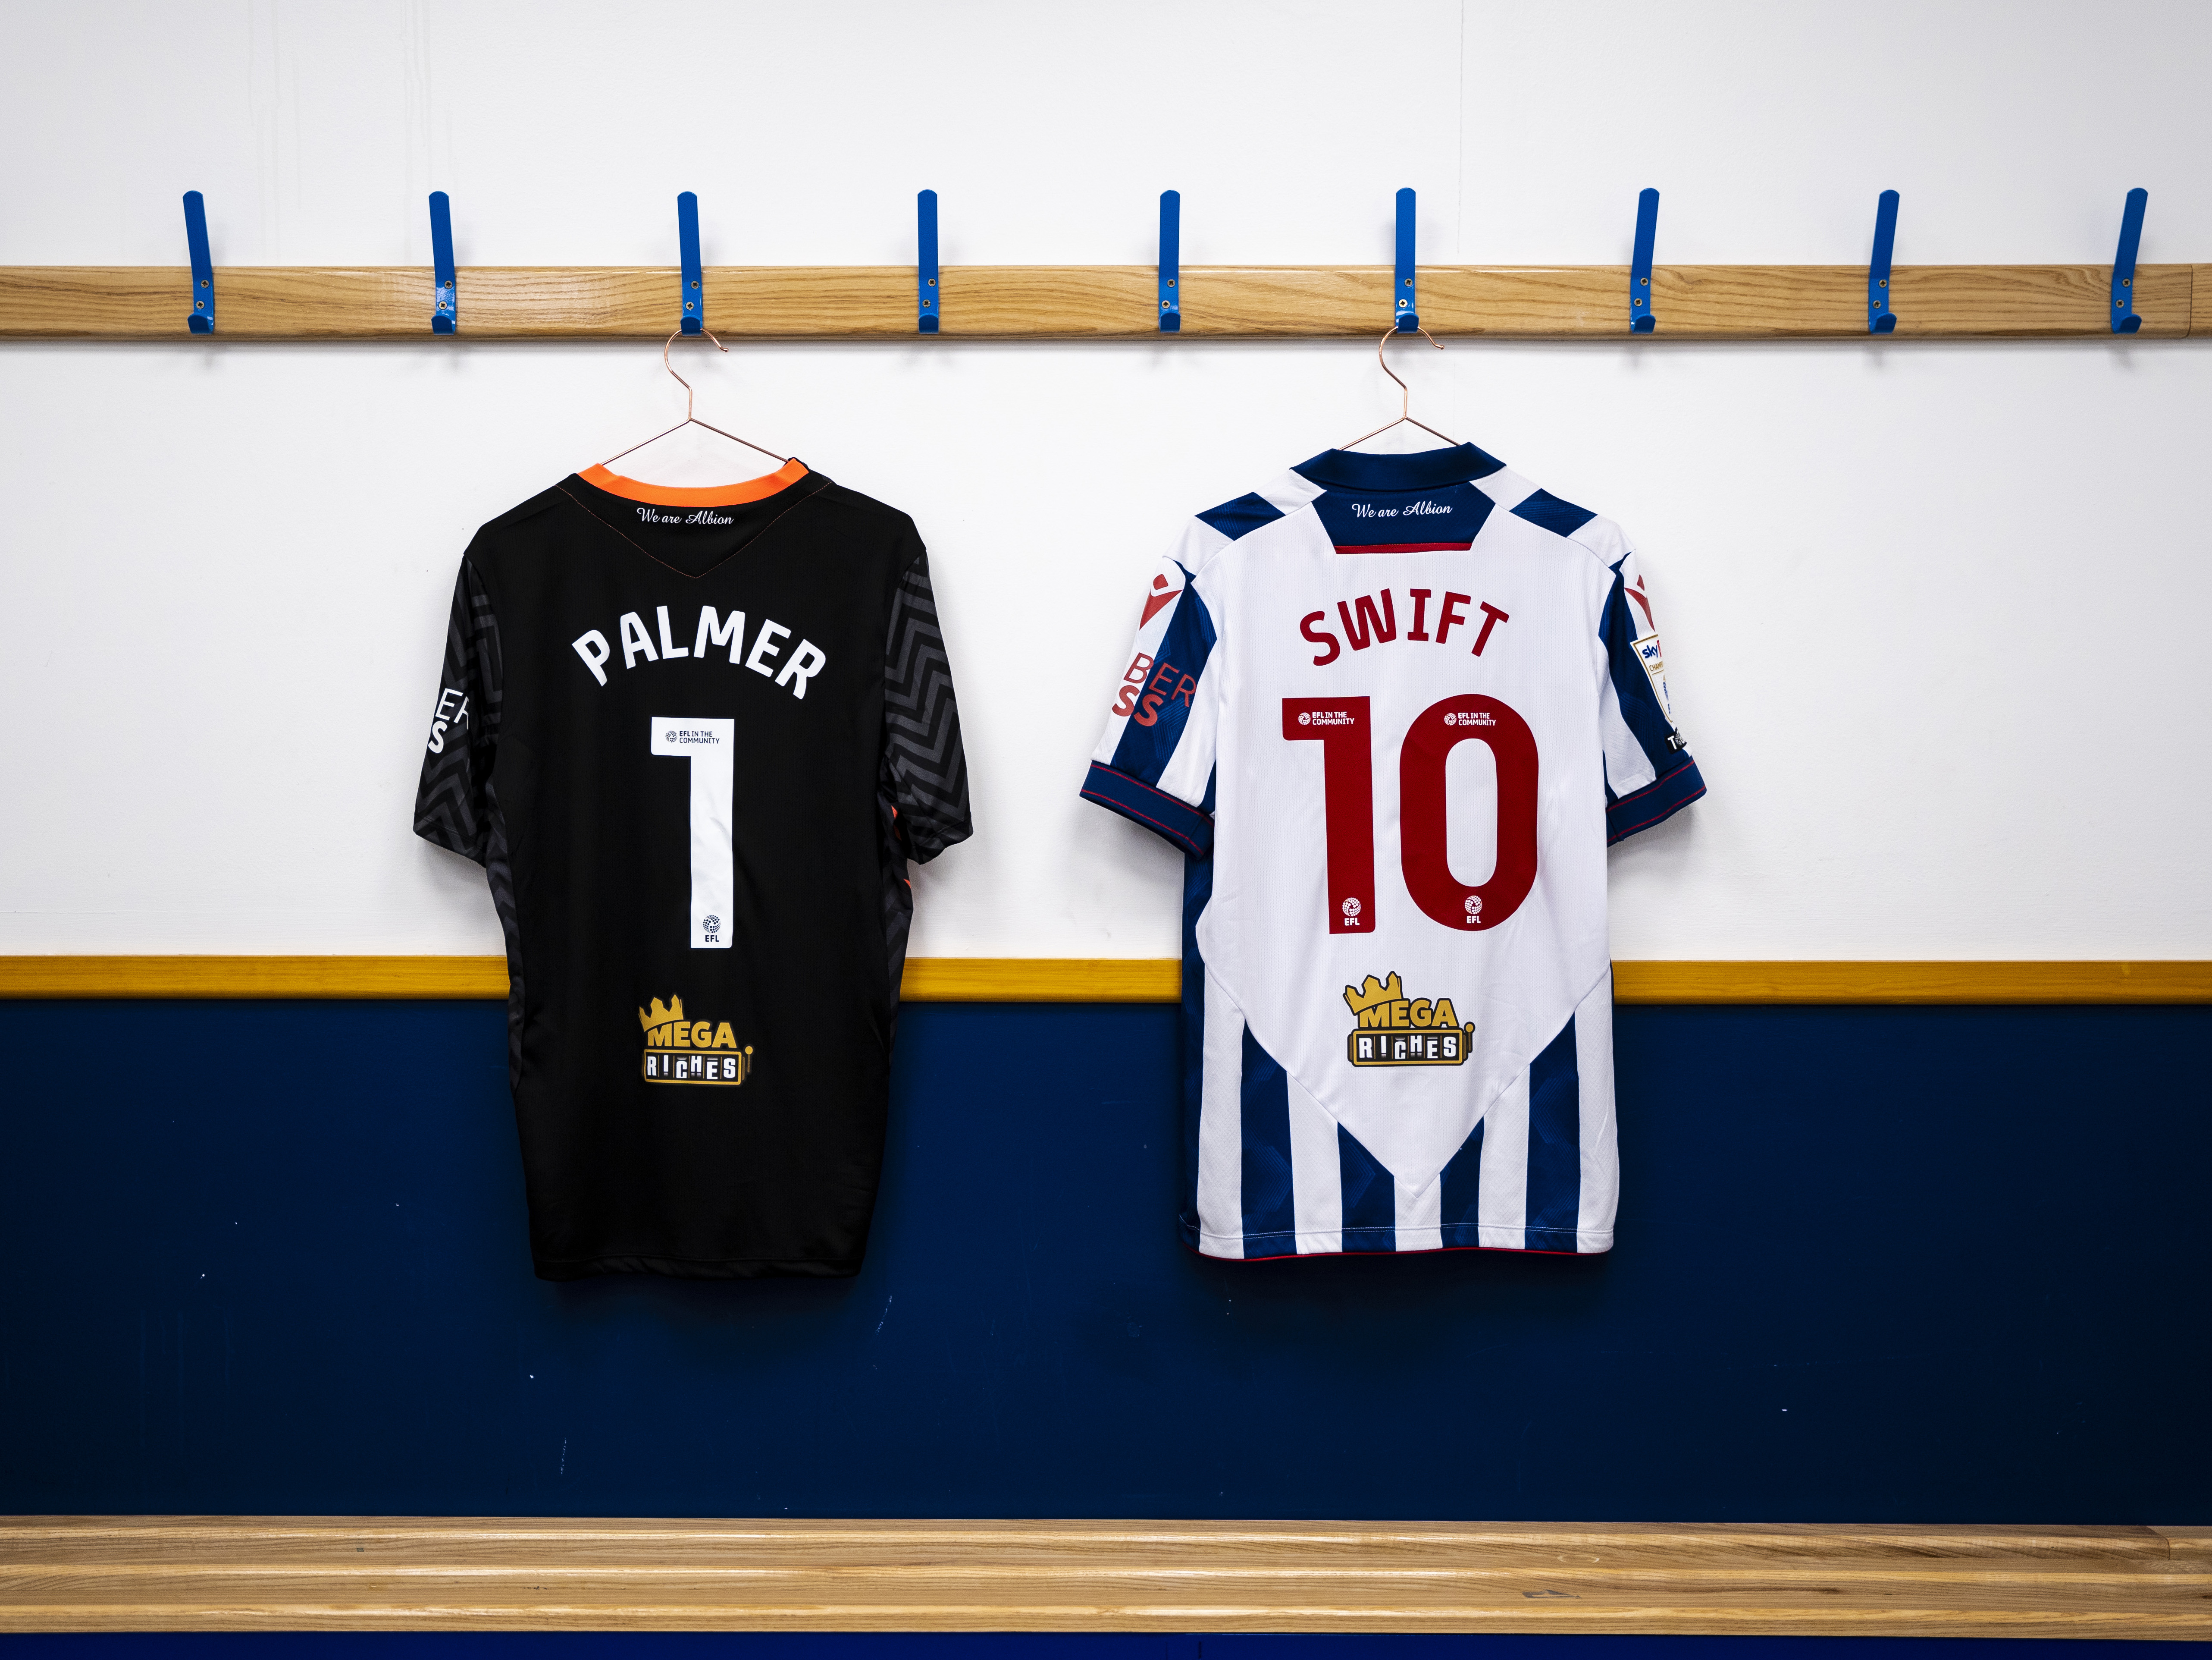
M 1608 1251 L 1606 845 L 1703 790 L 1628 538 L 1473 445 L 1199 513 L 1084 784 L 1186 852 L 1186 1244 Z

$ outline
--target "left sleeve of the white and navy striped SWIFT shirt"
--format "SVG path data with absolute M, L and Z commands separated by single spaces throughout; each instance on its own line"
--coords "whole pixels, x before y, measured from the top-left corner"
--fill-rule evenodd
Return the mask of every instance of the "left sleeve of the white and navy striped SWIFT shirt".
M 1201 580 L 1181 560 L 1161 560 L 1082 788 L 1086 801 L 1199 859 L 1214 845 L 1206 810 L 1221 695 L 1214 644 Z

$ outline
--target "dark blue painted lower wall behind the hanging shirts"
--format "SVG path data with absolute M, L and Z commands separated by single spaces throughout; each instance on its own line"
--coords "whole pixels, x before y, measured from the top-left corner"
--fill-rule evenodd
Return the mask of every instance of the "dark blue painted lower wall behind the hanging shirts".
M 1621 1009 L 1619 1248 L 1217 1264 L 909 1007 L 854 1282 L 531 1277 L 487 1003 L 0 1005 L 0 1509 L 2212 1521 L 2212 1009 Z

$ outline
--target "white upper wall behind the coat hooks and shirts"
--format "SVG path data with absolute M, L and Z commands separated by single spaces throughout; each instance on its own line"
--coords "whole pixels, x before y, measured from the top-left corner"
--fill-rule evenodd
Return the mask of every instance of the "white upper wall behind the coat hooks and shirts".
M 2212 9 L 11 7 L 0 263 L 2212 259 Z M 467 314 L 467 288 L 462 288 Z M 712 319 L 710 319 L 712 321 Z M 701 414 L 916 516 L 978 837 L 916 952 L 1159 956 L 1075 799 L 1175 525 L 1391 407 L 1358 343 L 695 352 Z M 1646 549 L 1712 795 L 1617 956 L 2212 956 L 2203 343 L 1475 345 L 1416 412 Z M 491 952 L 409 830 L 471 529 L 672 418 L 644 345 L 0 345 L 0 952 Z M 646 452 L 655 456 L 655 452 Z M 714 449 L 639 476 L 734 476 Z

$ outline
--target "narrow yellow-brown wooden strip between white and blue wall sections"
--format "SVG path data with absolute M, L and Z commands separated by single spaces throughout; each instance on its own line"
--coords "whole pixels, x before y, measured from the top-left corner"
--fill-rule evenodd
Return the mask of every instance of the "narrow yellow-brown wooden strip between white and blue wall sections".
M 916 956 L 907 1003 L 1175 1003 L 1172 956 Z M 504 998 L 502 956 L 0 956 L 0 998 Z M 2212 963 L 1615 963 L 1615 1003 L 2212 1003 Z

